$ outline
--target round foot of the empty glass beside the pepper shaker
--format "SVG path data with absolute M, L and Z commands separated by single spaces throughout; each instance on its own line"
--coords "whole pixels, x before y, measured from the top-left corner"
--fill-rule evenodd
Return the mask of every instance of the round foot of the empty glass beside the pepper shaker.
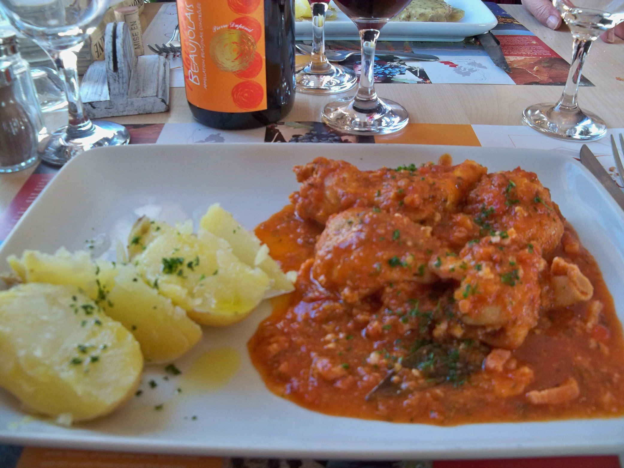
M 84 137 L 68 138 L 67 127 L 56 130 L 39 156 L 47 163 L 62 166 L 83 151 L 100 146 L 127 145 L 130 142 L 130 134 L 124 125 L 105 120 L 94 120 L 92 123 L 92 130 L 87 130 Z

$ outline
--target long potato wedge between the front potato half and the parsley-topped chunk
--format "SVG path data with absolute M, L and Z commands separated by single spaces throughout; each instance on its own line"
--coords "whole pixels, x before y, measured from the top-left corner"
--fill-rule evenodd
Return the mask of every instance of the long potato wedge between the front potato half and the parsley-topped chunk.
M 134 266 L 94 262 L 85 251 L 71 254 L 64 248 L 54 255 L 26 250 L 21 259 L 12 255 L 7 260 L 23 281 L 72 285 L 84 291 L 134 334 L 149 363 L 177 359 L 202 337 L 202 329 L 185 311 L 145 284 Z

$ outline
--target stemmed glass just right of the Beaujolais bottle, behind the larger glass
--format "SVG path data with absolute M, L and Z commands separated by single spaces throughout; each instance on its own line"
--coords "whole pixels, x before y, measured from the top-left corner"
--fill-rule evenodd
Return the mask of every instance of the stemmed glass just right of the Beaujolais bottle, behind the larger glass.
M 329 63 L 325 56 L 325 16 L 329 0 L 310 0 L 312 9 L 312 53 L 310 62 L 295 74 L 296 90 L 306 94 L 333 94 L 358 83 L 355 72 Z

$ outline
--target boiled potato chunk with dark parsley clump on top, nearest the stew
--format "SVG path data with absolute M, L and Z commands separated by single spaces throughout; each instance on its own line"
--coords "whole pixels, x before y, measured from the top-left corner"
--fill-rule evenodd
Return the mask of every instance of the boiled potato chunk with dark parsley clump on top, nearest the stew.
M 131 261 L 150 285 L 198 323 L 223 326 L 245 318 L 260 303 L 270 280 L 238 260 L 227 241 L 192 222 L 177 227 L 140 218 L 129 236 Z

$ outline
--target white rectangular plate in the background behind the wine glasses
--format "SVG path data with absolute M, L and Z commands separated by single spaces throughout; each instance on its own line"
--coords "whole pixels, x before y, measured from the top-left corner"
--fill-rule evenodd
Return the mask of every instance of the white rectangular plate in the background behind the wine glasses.
M 481 0 L 449 0 L 448 4 L 466 12 L 457 22 L 389 21 L 382 29 L 380 41 L 463 41 L 496 26 L 496 17 Z M 336 19 L 325 22 L 325 39 L 359 41 L 358 28 L 342 11 L 334 11 Z M 295 22 L 295 38 L 312 40 L 312 20 Z

